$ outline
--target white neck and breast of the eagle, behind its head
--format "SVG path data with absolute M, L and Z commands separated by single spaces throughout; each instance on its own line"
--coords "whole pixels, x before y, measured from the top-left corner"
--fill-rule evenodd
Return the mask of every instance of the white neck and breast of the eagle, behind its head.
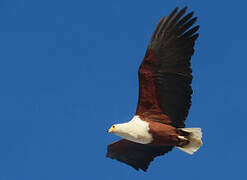
M 134 116 L 128 123 L 121 124 L 121 128 L 115 134 L 141 144 L 148 144 L 153 140 L 148 123 L 142 121 L 139 116 Z

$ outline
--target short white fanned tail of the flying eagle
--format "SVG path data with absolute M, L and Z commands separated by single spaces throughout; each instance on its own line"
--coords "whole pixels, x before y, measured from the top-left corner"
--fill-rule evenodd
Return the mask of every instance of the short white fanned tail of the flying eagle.
M 193 154 L 196 152 L 202 145 L 202 131 L 201 128 L 180 128 L 182 131 L 190 133 L 189 136 L 185 136 L 183 138 L 188 139 L 190 142 L 183 147 L 178 147 L 178 149 L 188 153 Z

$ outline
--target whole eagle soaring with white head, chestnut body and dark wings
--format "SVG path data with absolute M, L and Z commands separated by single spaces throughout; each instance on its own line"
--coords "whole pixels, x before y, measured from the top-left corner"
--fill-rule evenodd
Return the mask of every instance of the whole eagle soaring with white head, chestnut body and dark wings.
M 191 106 L 190 59 L 199 34 L 197 17 L 175 8 L 159 21 L 139 67 L 139 99 L 129 122 L 108 130 L 122 140 L 108 145 L 107 157 L 146 171 L 155 157 L 174 146 L 193 154 L 202 145 L 200 128 L 185 128 Z

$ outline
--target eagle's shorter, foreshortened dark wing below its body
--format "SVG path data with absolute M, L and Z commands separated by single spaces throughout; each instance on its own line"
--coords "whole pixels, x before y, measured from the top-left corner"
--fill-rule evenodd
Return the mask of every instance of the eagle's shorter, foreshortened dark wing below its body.
M 172 148 L 173 146 L 145 145 L 122 139 L 108 145 L 106 156 L 126 163 L 136 170 L 146 171 L 156 156 L 164 155 Z

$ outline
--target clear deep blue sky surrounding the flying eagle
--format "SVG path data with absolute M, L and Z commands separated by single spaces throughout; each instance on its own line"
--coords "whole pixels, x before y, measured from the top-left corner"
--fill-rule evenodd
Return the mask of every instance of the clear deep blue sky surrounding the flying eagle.
M 155 25 L 176 6 L 199 17 L 187 127 L 147 173 L 105 157 L 110 125 L 135 113 L 137 69 Z M 198 0 L 2 0 L 0 180 L 245 179 L 247 3 Z

